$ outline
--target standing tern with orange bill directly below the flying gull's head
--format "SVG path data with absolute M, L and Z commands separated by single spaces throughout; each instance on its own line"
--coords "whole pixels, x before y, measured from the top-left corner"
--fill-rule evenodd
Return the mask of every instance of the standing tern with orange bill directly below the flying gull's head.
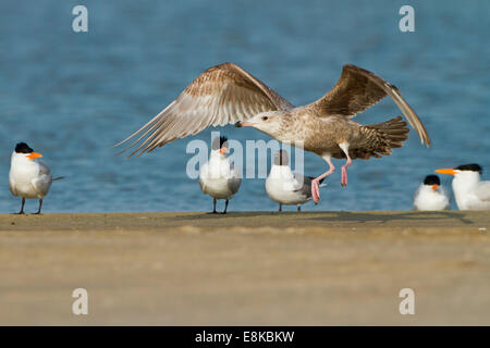
M 216 200 L 225 199 L 223 214 L 230 199 L 238 191 L 242 179 L 233 162 L 226 157 L 226 137 L 217 137 L 211 144 L 209 161 L 199 170 L 199 185 L 204 194 L 212 197 L 212 213 L 216 214 Z

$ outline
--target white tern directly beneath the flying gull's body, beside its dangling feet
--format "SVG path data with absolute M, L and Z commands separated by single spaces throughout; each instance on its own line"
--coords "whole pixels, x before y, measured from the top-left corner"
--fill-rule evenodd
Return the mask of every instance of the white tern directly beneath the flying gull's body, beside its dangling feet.
M 311 200 L 311 181 L 314 178 L 293 173 L 287 152 L 280 150 L 275 152 L 274 163 L 266 179 L 266 192 L 270 199 L 279 203 L 279 211 L 282 211 L 282 204 L 285 204 L 297 206 L 299 212 L 302 204 Z

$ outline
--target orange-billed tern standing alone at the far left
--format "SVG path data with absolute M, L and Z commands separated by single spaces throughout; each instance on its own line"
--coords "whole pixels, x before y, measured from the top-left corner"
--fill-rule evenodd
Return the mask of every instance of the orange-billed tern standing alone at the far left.
M 62 178 L 52 178 L 49 166 L 36 161 L 41 157 L 25 142 L 19 142 L 12 152 L 9 188 L 12 195 L 22 197 L 19 214 L 24 214 L 26 198 L 39 199 L 39 208 L 35 214 L 40 214 L 42 199 L 48 195 L 52 182 Z

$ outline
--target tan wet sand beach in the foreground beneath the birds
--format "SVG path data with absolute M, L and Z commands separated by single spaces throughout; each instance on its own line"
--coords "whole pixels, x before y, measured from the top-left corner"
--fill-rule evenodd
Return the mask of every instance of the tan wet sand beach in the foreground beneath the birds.
M 490 212 L 0 215 L 0 324 L 490 325 L 489 232 Z

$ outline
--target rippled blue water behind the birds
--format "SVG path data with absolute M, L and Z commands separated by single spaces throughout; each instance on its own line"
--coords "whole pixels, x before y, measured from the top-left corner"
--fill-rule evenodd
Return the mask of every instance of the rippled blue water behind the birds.
M 403 4 L 416 32 L 401 33 Z M 88 8 L 85 34 L 72 9 Z M 211 198 L 185 175 L 188 140 L 125 160 L 111 146 L 170 103 L 205 69 L 232 61 L 294 104 L 310 102 L 354 63 L 395 84 L 426 124 L 433 147 L 411 138 L 382 160 L 340 171 L 305 210 L 405 210 L 437 167 L 490 166 L 490 2 L 473 1 L 11 1 L 0 2 L 0 212 L 17 141 L 44 153 L 53 175 L 45 212 L 206 211 Z M 357 116 L 400 114 L 384 100 Z M 241 141 L 255 129 L 220 128 Z M 306 173 L 327 170 L 307 153 Z M 342 162 L 336 161 L 336 164 Z M 449 178 L 443 183 L 450 185 Z M 33 211 L 37 202 L 29 201 Z M 246 179 L 230 210 L 272 210 L 264 179 Z

